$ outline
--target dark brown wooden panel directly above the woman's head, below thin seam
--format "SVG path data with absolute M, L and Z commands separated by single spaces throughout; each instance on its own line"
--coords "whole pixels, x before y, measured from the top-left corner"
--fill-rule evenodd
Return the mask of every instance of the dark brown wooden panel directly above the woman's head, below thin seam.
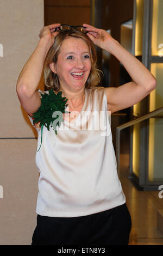
M 83 25 L 91 23 L 90 7 L 48 7 L 45 6 L 45 26 L 52 23 Z

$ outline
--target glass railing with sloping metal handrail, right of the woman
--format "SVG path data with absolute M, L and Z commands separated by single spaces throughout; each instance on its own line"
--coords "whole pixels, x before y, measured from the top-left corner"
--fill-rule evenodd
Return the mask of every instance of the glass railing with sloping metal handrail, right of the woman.
M 148 151 L 148 169 L 142 169 L 140 168 L 140 150 L 135 150 L 137 152 L 137 155 L 133 150 L 131 151 L 132 155 L 132 164 L 130 166 L 130 174 L 131 176 L 135 177 L 136 181 L 139 183 L 139 180 L 142 180 L 142 175 L 146 177 L 145 183 L 141 186 L 144 187 L 150 187 L 152 186 L 154 188 L 155 185 L 159 185 L 160 182 L 163 182 L 163 157 L 162 157 L 162 140 L 163 136 L 160 136 L 162 134 L 162 125 L 163 125 L 163 107 L 160 107 L 158 109 L 155 109 L 152 112 L 149 112 L 148 114 L 143 115 L 142 117 L 135 118 L 134 120 L 131 120 L 125 124 L 122 124 L 120 126 L 116 127 L 116 160 L 117 160 L 117 172 L 120 176 L 121 167 L 120 167 L 120 141 L 121 141 L 121 130 L 130 127 L 139 125 L 141 121 L 145 121 L 149 119 L 149 127 L 148 127 L 148 148 L 146 149 Z M 138 129 L 139 131 L 141 130 Z M 154 132 L 155 130 L 155 132 Z M 140 149 L 140 133 L 139 134 L 132 134 L 133 136 L 133 143 L 137 143 L 137 147 Z M 134 168 L 133 168 L 134 167 Z M 138 186 L 140 184 L 137 184 Z M 150 188 L 149 188 L 150 190 Z M 152 190 L 152 188 L 151 188 Z

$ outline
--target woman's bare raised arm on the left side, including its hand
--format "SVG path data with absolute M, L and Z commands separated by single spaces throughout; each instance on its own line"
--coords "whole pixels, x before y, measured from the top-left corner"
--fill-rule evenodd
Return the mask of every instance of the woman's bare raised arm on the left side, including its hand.
M 18 99 L 29 115 L 36 112 L 41 105 L 40 96 L 36 91 L 36 88 L 40 82 L 46 55 L 49 48 L 51 48 L 54 43 L 55 36 L 58 34 L 58 32 L 53 31 L 58 26 L 60 26 L 60 23 L 42 28 L 39 34 L 39 44 L 24 65 L 21 74 L 18 77 L 16 85 Z

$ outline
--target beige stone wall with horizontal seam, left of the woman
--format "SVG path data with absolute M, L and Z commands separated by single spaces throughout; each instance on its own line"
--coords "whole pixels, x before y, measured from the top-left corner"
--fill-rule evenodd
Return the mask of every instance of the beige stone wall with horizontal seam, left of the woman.
M 39 42 L 43 8 L 43 0 L 0 1 L 0 245 L 30 245 L 36 224 L 37 133 L 20 106 L 16 82 Z

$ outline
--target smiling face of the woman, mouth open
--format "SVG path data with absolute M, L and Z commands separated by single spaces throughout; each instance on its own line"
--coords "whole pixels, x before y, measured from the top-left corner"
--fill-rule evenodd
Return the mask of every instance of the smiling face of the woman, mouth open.
M 83 39 L 70 37 L 62 42 L 54 71 L 61 88 L 77 92 L 85 87 L 91 71 L 91 57 Z

